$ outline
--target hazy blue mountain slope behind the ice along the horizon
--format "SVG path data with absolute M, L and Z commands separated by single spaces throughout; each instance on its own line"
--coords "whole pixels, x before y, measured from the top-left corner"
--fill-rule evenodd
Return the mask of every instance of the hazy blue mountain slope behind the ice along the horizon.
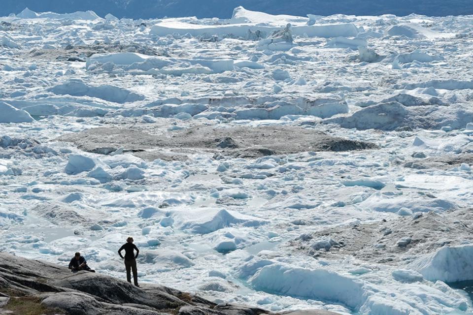
M 410 13 L 429 16 L 473 14 L 472 0 L 3 0 L 0 15 L 19 13 L 25 7 L 43 12 L 66 13 L 94 10 L 100 16 L 111 13 L 117 17 L 161 18 L 197 16 L 229 18 L 232 10 L 242 5 L 249 10 L 271 14 L 305 16 L 308 13 L 355 15 Z

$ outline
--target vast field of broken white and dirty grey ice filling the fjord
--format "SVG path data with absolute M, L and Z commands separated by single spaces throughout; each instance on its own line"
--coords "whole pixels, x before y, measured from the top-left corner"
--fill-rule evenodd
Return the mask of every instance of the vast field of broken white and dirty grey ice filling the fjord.
M 141 283 L 216 302 L 473 314 L 472 29 L 2 17 L 0 251 L 123 278 L 132 235 Z

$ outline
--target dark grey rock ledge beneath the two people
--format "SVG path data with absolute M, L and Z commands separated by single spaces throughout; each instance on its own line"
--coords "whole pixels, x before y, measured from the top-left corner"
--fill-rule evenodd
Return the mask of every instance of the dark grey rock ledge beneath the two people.
M 268 311 L 215 304 L 165 286 L 128 282 L 99 273 L 0 252 L 0 315 L 260 315 Z M 336 315 L 310 310 L 291 315 Z

